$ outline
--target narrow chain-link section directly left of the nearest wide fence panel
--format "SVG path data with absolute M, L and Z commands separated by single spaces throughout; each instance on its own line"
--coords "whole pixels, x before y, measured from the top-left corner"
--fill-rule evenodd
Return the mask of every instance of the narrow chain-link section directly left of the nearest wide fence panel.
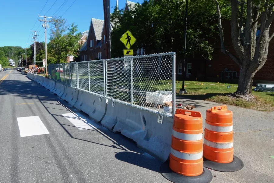
M 104 60 L 89 61 L 89 91 L 101 96 L 105 95 Z

